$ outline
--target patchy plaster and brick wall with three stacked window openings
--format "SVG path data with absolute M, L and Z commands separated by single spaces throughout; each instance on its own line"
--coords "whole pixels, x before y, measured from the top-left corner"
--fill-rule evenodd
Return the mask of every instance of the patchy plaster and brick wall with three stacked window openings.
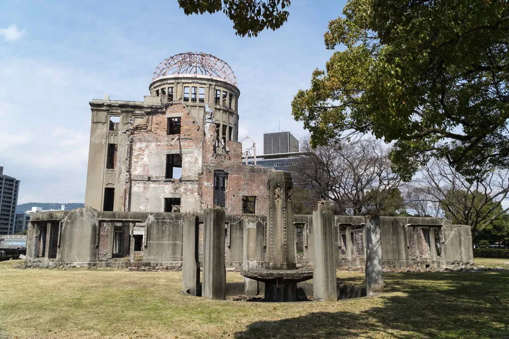
M 167 135 L 167 118 L 181 117 L 180 135 Z M 182 103 L 154 112 L 133 124 L 130 165 L 131 211 L 164 211 L 164 198 L 181 198 L 181 211 L 200 208 L 203 129 Z M 179 138 L 177 139 L 177 136 Z M 166 179 L 166 155 L 182 154 L 182 177 Z

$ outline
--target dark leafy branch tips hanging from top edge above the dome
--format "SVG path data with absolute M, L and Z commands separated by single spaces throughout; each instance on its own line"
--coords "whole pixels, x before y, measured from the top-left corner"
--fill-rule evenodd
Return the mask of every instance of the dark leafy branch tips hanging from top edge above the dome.
M 186 15 L 222 11 L 242 37 L 258 36 L 265 28 L 275 30 L 288 20 L 290 0 L 178 0 Z

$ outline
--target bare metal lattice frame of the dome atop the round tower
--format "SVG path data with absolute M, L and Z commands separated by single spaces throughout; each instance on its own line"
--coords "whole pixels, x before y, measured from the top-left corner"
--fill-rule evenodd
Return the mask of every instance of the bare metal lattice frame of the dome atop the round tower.
M 164 59 L 157 66 L 152 81 L 173 74 L 203 74 L 231 82 L 237 86 L 237 78 L 225 61 L 206 53 L 180 53 Z

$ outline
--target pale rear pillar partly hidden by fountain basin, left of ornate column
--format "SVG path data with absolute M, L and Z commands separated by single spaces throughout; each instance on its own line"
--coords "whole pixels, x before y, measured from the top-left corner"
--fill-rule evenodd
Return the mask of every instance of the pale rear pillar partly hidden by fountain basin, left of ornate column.
M 257 220 L 254 217 L 242 219 L 244 229 L 244 269 L 257 267 Z M 246 295 L 258 294 L 258 282 L 244 277 Z

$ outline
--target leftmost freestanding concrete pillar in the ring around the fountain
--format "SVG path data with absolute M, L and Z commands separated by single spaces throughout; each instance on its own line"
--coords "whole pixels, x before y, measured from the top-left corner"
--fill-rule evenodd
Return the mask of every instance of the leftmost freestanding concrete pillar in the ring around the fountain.
M 184 215 L 182 236 L 182 287 L 200 287 L 200 261 L 198 259 L 198 236 L 200 224 L 196 215 Z

